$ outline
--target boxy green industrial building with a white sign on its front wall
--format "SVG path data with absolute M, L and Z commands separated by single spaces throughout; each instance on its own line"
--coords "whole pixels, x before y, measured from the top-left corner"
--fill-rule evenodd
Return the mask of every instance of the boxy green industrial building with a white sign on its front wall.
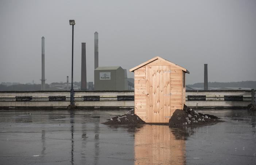
M 128 90 L 126 69 L 98 67 L 94 70 L 94 90 Z

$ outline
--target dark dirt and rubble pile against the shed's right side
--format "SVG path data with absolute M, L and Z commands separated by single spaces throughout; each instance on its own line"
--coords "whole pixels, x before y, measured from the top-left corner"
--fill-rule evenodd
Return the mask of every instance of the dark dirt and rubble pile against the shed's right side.
M 172 114 L 169 120 L 169 127 L 203 126 L 214 124 L 219 121 L 219 118 L 214 115 L 198 113 L 184 105 L 183 110 L 176 109 Z

